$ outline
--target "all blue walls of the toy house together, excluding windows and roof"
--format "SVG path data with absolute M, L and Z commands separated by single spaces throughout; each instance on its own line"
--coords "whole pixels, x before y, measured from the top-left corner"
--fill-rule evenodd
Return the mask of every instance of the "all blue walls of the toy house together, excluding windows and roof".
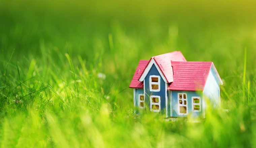
M 157 75 L 160 76 L 160 91 L 150 91 L 150 76 Z M 206 80 L 206 84 L 203 91 L 170 91 L 166 90 L 166 83 L 161 77 L 160 73 L 157 70 L 155 64 L 152 65 L 147 76 L 144 79 L 144 88 L 145 88 L 145 107 L 150 108 L 150 96 L 160 96 L 161 105 L 160 112 L 161 114 L 166 114 L 166 98 L 167 94 L 167 116 L 166 117 L 186 117 L 187 115 L 178 114 L 178 93 L 186 93 L 188 99 L 188 115 L 194 118 L 204 118 L 205 117 L 205 100 L 209 100 L 211 106 L 220 107 L 220 84 L 217 80 L 217 77 L 214 73 L 214 70 L 211 68 L 209 76 Z M 138 107 L 139 94 L 144 94 L 144 89 L 134 89 L 134 107 Z M 192 97 L 200 97 L 201 101 L 201 111 L 192 112 Z

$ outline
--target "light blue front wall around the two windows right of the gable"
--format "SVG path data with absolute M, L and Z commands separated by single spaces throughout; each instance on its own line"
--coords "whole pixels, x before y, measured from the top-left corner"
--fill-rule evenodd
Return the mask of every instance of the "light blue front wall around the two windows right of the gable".
M 186 93 L 188 98 L 188 114 L 191 117 L 197 118 L 202 117 L 203 104 L 202 104 L 202 92 L 200 91 L 171 91 L 171 106 L 172 106 L 172 117 L 184 117 L 187 115 L 178 115 L 178 93 Z M 201 111 L 200 112 L 192 112 L 192 97 L 201 97 Z

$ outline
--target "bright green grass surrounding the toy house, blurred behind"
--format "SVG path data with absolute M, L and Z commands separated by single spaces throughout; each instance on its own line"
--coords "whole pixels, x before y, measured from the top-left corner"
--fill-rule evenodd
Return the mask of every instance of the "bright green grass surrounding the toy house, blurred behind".
M 0 0 L 1 147 L 256 146 L 254 4 L 141 3 Z M 139 60 L 175 50 L 214 62 L 228 112 L 134 114 Z

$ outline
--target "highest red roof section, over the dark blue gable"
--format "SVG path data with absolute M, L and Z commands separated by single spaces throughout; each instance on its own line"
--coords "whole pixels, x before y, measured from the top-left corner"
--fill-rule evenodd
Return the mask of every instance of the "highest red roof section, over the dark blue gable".
M 152 57 L 150 59 L 150 61 L 152 59 L 154 59 L 156 61 L 157 66 L 160 68 L 161 72 L 163 73 L 163 75 L 166 78 L 168 83 L 173 82 L 171 61 L 187 61 L 184 58 L 181 51 L 174 51 L 174 52 L 170 52 L 170 53 L 161 54 L 159 56 Z M 147 66 L 149 65 L 149 63 L 150 62 L 148 62 Z M 145 70 L 143 70 L 140 77 L 142 76 L 144 71 Z M 140 77 L 138 79 L 140 79 Z

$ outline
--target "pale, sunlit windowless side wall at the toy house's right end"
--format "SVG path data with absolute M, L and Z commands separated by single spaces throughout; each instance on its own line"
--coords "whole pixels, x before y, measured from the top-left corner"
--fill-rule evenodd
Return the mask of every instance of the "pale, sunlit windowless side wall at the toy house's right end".
M 212 68 L 205 83 L 203 97 L 205 108 L 207 106 L 207 101 L 210 102 L 213 108 L 220 108 L 220 84 Z

